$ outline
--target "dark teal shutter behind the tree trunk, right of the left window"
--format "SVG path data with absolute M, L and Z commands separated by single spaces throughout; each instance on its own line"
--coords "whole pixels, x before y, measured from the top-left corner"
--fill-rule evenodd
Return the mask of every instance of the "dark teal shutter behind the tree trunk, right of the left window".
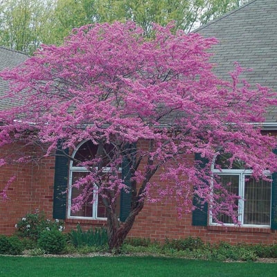
M 121 190 L 120 215 L 119 215 L 120 222 L 125 222 L 131 210 L 131 202 L 132 202 L 131 168 L 132 166 L 134 166 L 134 163 L 136 161 L 136 144 L 133 143 L 132 145 L 127 145 L 127 148 L 128 148 L 127 153 L 125 153 L 123 156 L 121 175 L 125 185 L 129 188 L 129 192 L 126 192 L 125 190 Z

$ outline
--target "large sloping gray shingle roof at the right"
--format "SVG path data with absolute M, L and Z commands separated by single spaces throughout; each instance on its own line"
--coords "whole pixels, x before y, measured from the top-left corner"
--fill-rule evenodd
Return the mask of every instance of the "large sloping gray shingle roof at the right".
M 195 30 L 204 37 L 216 37 L 212 62 L 215 73 L 228 78 L 233 63 L 252 69 L 242 75 L 251 84 L 277 90 L 277 0 L 253 0 L 227 15 Z M 267 122 L 277 122 L 277 108 L 267 114 Z

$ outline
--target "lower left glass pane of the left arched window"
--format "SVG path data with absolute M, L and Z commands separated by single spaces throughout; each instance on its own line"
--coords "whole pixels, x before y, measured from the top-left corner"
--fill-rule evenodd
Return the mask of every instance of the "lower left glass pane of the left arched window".
M 84 177 L 87 175 L 87 172 L 72 172 L 72 184 L 75 183 L 80 177 Z M 78 195 L 82 193 L 82 188 L 71 188 L 71 203 L 72 200 Z M 87 202 L 82 205 L 82 208 L 79 211 L 76 211 L 73 213 L 73 211 L 70 211 L 71 216 L 78 216 L 78 217 L 92 217 L 92 212 L 93 212 L 93 204 L 91 203 L 93 200 L 93 193 L 89 195 Z

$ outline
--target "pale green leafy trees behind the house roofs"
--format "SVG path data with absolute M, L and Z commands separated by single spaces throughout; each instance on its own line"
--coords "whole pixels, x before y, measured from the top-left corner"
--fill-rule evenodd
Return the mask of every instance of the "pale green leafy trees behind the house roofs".
M 85 24 L 135 21 L 145 35 L 152 34 L 152 23 L 166 26 L 175 21 L 175 29 L 193 28 L 229 10 L 245 0 L 5 0 L 0 2 L 0 44 L 32 54 L 42 43 L 57 44 L 73 28 Z

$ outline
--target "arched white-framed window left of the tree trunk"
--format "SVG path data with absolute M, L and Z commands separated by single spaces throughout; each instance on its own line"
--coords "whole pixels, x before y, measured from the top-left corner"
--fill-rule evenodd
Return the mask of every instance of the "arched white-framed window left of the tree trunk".
M 84 141 L 78 145 L 78 148 L 73 152 L 72 157 L 75 159 L 70 162 L 69 168 L 69 201 L 68 201 L 68 217 L 69 218 L 85 218 L 93 220 L 105 220 L 107 218 L 106 208 L 102 202 L 101 197 L 98 196 L 97 186 L 91 184 L 91 194 L 89 195 L 87 202 L 82 205 L 79 211 L 73 212 L 71 210 L 71 204 L 73 199 L 78 197 L 81 193 L 81 189 L 73 186 L 75 181 L 81 177 L 85 177 L 89 171 L 87 168 L 80 166 L 80 162 L 89 161 L 91 158 L 96 157 L 98 145 L 92 143 L 92 141 Z M 105 145 L 105 151 L 111 154 L 111 145 Z M 103 159 L 103 165 L 105 168 L 103 172 L 109 172 L 108 160 Z

